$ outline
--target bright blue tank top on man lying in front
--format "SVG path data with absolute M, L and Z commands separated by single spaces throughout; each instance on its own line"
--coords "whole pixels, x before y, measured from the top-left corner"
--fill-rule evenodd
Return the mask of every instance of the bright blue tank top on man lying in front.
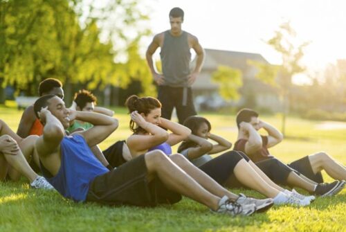
M 53 177 L 41 163 L 42 173 L 61 195 L 75 202 L 84 202 L 91 181 L 109 170 L 95 158 L 80 134 L 65 136 L 60 150 L 62 161 L 57 175 Z

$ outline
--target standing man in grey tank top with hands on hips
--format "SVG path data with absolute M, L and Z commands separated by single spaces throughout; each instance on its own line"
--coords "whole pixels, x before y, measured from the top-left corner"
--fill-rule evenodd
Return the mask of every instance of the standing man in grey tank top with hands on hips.
M 185 118 L 196 115 L 194 109 L 191 85 L 201 71 L 204 51 L 197 37 L 181 30 L 184 21 L 184 12 L 181 8 L 170 11 L 171 29 L 154 36 L 147 48 L 147 62 L 155 82 L 158 84 L 158 100 L 162 103 L 162 117 L 170 120 L 173 108 L 179 123 Z M 152 55 L 161 48 L 161 62 L 163 73 L 154 68 Z M 197 62 L 194 70 L 190 71 L 191 53 L 193 48 L 197 53 Z

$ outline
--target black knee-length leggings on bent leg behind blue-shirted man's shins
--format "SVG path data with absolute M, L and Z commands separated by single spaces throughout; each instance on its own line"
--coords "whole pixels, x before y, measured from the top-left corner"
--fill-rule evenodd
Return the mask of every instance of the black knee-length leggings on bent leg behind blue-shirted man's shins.
M 244 153 L 244 156 L 241 153 L 242 152 L 237 151 L 226 152 L 221 154 L 219 157 L 204 163 L 202 166 L 199 166 L 199 169 L 206 172 L 208 176 L 212 177 L 212 179 L 223 186 L 226 183 L 226 180 L 233 175 L 233 170 L 239 161 L 242 159 L 245 159 L 246 161 L 250 160 Z

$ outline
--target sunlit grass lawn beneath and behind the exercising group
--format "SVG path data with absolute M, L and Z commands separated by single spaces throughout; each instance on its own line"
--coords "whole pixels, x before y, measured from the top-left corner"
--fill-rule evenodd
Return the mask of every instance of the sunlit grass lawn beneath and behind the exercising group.
M 117 108 L 120 127 L 100 147 L 107 148 L 129 136 L 129 116 Z M 23 111 L 0 106 L 0 118 L 17 126 Z M 237 128 L 234 115 L 202 114 L 212 124 L 212 132 L 235 142 Z M 278 116 L 264 116 L 264 121 L 280 126 Z M 289 117 L 284 141 L 271 153 L 289 162 L 307 154 L 324 150 L 346 164 L 346 123 L 306 121 Z M 321 126 L 324 125 L 324 126 Z M 327 125 L 327 126 L 326 126 Z M 330 129 L 331 128 L 331 129 Z M 175 147 L 173 150 L 176 150 Z M 327 181 L 331 181 L 323 173 Z M 251 190 L 234 189 L 263 197 Z M 304 193 L 304 191 L 301 191 Z M 299 208 L 274 206 L 266 213 L 251 217 L 215 215 L 208 208 L 183 198 L 173 206 L 138 208 L 108 207 L 98 204 L 76 204 L 57 192 L 30 189 L 24 178 L 19 182 L 0 183 L 0 231 L 346 231 L 346 190 L 335 197 L 316 199 Z

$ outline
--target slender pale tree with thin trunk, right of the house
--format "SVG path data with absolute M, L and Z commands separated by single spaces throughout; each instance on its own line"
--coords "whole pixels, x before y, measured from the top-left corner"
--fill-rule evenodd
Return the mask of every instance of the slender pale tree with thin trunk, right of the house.
M 285 134 L 286 115 L 289 112 L 289 96 L 292 87 L 292 77 L 306 68 L 300 64 L 304 56 L 304 48 L 309 42 L 298 44 L 295 42 L 296 33 L 289 22 L 285 22 L 275 30 L 274 36 L 266 41 L 275 51 L 280 53 L 282 64 L 273 66 L 252 61 L 251 64 L 259 69 L 257 78 L 271 84 L 280 90 L 282 100 L 282 134 Z

